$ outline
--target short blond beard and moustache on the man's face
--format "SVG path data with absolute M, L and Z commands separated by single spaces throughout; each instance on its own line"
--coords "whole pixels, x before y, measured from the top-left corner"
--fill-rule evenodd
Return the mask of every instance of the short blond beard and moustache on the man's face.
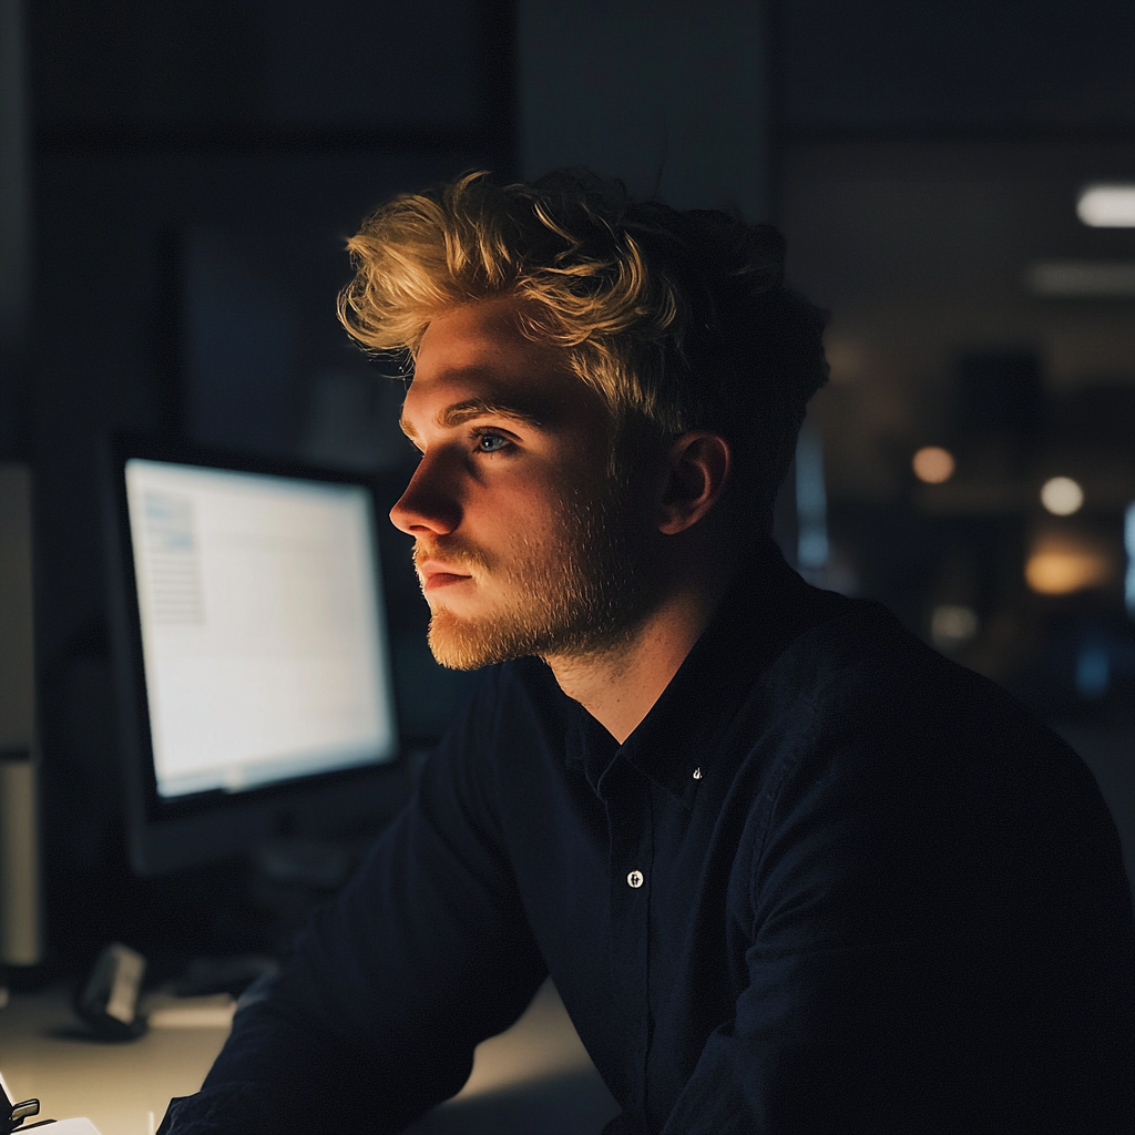
M 641 508 L 619 481 L 611 478 L 586 499 L 575 491 L 561 501 L 543 539 L 519 536 L 491 552 L 446 537 L 419 540 L 415 564 L 437 557 L 470 568 L 496 598 L 476 616 L 443 605 L 434 611 L 428 640 L 438 663 L 478 670 L 527 656 L 579 657 L 633 637 L 659 586 L 648 570 Z

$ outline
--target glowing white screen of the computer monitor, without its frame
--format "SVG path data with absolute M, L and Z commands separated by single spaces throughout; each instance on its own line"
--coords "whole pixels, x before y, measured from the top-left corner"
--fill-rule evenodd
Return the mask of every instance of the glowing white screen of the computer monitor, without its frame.
M 393 759 L 369 491 L 140 457 L 125 481 L 159 797 Z

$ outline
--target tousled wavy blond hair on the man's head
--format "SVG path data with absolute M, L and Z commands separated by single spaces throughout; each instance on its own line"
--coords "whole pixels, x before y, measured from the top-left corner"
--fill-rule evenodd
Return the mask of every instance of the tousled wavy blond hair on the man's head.
M 826 378 L 823 317 L 784 287 L 774 228 L 636 202 L 587 171 L 402 194 L 347 249 L 338 313 L 367 351 L 412 362 L 439 312 L 515 296 L 523 334 L 562 347 L 616 423 L 722 432 L 768 506 Z

